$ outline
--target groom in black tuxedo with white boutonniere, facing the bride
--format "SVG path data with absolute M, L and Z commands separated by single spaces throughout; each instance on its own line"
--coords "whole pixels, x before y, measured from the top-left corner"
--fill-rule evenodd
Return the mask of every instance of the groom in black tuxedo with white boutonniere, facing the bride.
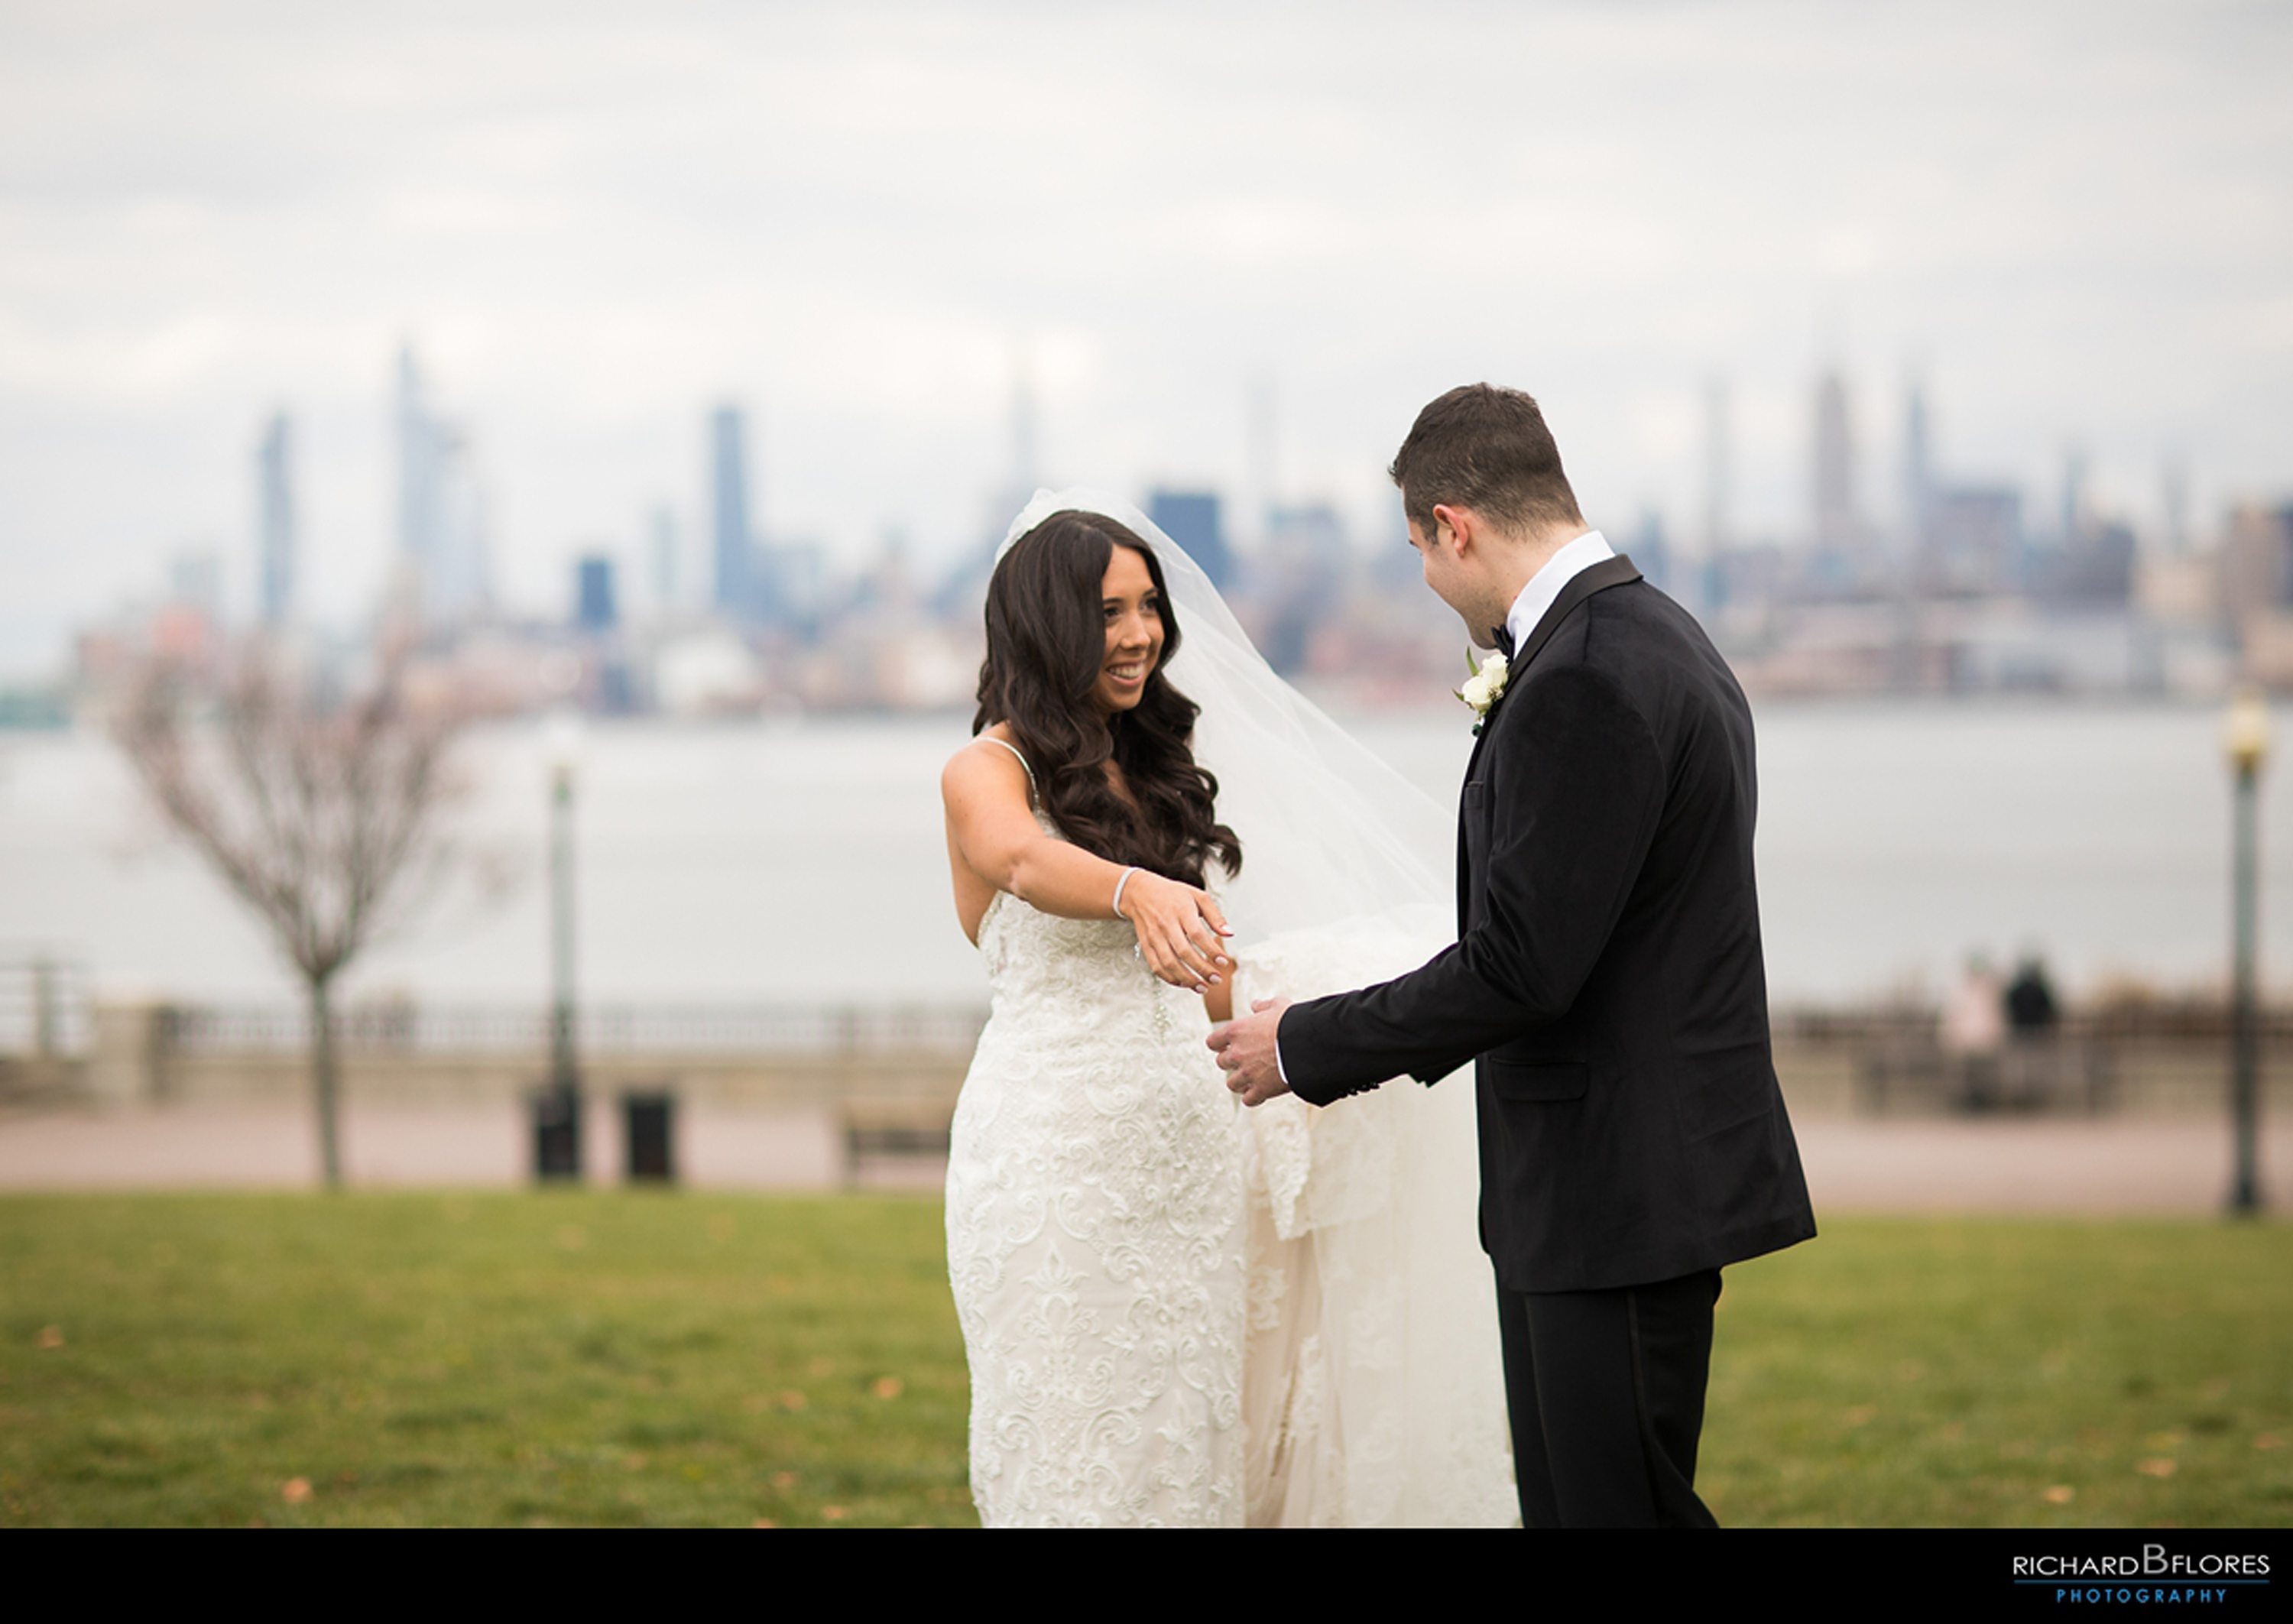
M 1520 1521 L 1711 1528 L 1720 1268 L 1816 1232 L 1768 1051 L 1752 713 L 1584 525 L 1527 395 L 1449 390 L 1392 477 L 1426 585 L 1507 654 L 1468 684 L 1458 943 L 1211 1048 L 1250 1106 L 1474 1062 Z

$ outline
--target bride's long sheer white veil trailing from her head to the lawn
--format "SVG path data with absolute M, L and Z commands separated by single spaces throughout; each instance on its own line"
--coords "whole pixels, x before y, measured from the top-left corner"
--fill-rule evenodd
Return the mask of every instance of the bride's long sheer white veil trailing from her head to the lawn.
M 1222 890 L 1236 1009 L 1392 979 L 1449 945 L 1454 817 L 1282 681 L 1204 569 L 1130 502 L 1036 491 L 1004 546 L 1066 509 L 1119 521 L 1163 567 L 1183 633 L 1167 672 L 1202 706 L 1195 759 L 1243 840 Z M 1250 1523 L 1518 1521 L 1470 1076 L 1328 1110 L 1293 1096 L 1236 1110 Z

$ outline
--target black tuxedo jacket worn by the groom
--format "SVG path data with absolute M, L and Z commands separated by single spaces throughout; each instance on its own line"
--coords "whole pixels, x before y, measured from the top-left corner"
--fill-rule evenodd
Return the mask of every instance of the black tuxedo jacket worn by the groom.
M 1816 1232 L 1775 1085 L 1752 711 L 1630 560 L 1513 654 L 1465 768 L 1458 943 L 1282 1016 L 1328 1106 L 1474 1062 L 1481 1246 L 1513 1291 L 1672 1280 Z

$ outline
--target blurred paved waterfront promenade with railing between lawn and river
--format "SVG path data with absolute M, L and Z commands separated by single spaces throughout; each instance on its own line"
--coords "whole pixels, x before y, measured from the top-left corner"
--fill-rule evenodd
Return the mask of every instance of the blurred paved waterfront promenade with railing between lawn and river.
M 319 1184 L 298 1012 L 50 1002 L 46 1016 L 32 1009 L 46 1002 L 25 1002 L 9 1023 L 16 1048 L 37 1053 L 0 1053 L 0 1193 Z M 929 1151 L 945 1147 L 984 1014 L 592 1007 L 580 1021 L 587 1181 L 621 1179 L 621 1096 L 635 1092 L 674 1099 L 679 1184 L 931 1190 L 945 1161 Z M 1981 1112 L 1965 1110 L 1928 1016 L 1786 1012 L 1775 1060 L 1821 1209 L 2210 1213 L 2231 1156 L 2220 1023 L 2208 1007 L 2073 1012 L 2057 1041 L 2006 1057 L 1997 1103 Z M 367 1007 L 344 1018 L 339 1053 L 353 1188 L 514 1188 L 532 1177 L 546 1012 Z M 2293 1014 L 2270 1012 L 2263 1060 L 2263 1190 L 2284 1202 Z

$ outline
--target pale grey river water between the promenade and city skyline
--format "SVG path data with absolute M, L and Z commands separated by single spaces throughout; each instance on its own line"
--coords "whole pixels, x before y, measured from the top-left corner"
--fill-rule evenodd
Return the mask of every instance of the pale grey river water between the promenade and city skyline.
M 1344 718 L 1442 801 L 1458 706 Z M 970 1000 L 938 771 L 963 718 L 592 725 L 580 755 L 578 966 L 603 1000 Z M 2048 702 L 1759 709 L 1759 883 L 1779 1002 L 1944 986 L 1967 950 L 2041 950 L 2071 991 L 2220 984 L 2229 778 L 2220 711 Z M 541 729 L 470 739 L 459 828 L 507 888 L 463 885 L 349 991 L 532 1000 L 548 977 Z M 1241 830 L 1245 842 L 1250 830 Z M 2263 860 L 2293 851 L 2263 784 Z M 2265 869 L 2268 872 L 2268 869 Z M 94 734 L 0 734 L 0 959 L 57 952 L 105 993 L 291 991 L 243 908 L 167 837 Z M 2293 885 L 2263 973 L 2293 970 Z

